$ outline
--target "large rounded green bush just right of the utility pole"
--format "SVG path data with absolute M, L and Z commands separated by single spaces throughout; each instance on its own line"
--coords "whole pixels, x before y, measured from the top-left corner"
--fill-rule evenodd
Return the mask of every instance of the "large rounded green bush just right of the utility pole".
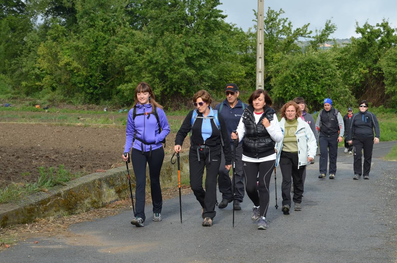
M 333 61 L 330 51 L 309 49 L 305 53 L 282 55 L 272 67 L 272 98 L 276 106 L 295 97 L 303 97 L 311 110 L 322 108 L 331 98 L 335 108 L 345 108 L 353 99 Z

